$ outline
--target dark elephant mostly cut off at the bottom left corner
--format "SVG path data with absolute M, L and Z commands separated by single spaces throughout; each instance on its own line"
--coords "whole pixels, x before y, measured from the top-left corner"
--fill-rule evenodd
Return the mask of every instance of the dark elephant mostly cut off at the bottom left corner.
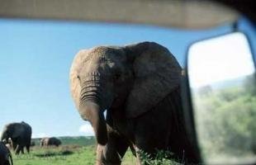
M 13 165 L 12 153 L 2 142 L 0 142 L 0 165 Z

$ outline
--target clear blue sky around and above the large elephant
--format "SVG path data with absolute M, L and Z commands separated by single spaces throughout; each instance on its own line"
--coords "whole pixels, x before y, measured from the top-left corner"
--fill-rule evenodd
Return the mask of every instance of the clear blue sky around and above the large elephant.
M 256 33 L 242 19 L 240 28 L 256 45 Z M 97 45 L 155 41 L 184 66 L 187 46 L 196 40 L 230 32 L 225 24 L 204 31 L 75 21 L 0 19 L 0 130 L 24 120 L 33 136 L 90 135 L 69 92 L 74 54 Z

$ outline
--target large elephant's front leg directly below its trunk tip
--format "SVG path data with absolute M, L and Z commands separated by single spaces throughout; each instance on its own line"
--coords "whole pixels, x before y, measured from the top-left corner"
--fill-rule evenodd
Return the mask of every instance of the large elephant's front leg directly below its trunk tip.
M 121 158 L 129 147 L 128 141 L 121 134 L 107 125 L 108 141 L 97 145 L 97 165 L 120 165 Z

